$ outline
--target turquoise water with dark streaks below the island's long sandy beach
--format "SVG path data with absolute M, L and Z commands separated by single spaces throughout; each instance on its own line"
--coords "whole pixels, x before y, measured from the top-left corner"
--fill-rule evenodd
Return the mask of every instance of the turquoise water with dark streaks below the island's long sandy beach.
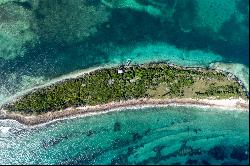
M 0 123 L 0 164 L 249 163 L 248 112 L 169 106 Z

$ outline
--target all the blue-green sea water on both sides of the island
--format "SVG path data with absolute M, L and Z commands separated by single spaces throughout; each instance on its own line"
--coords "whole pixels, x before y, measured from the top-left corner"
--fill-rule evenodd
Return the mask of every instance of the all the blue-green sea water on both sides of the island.
M 249 86 L 248 0 L 0 0 L 0 105 L 90 67 L 216 64 Z M 147 108 L 26 128 L 0 164 L 247 164 L 249 113 Z

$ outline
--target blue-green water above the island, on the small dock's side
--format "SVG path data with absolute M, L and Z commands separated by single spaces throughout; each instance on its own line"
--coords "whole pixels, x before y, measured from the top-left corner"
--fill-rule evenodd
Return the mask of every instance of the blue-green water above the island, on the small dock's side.
M 0 0 L 0 104 L 58 76 L 127 59 L 249 69 L 247 0 L 13 1 Z

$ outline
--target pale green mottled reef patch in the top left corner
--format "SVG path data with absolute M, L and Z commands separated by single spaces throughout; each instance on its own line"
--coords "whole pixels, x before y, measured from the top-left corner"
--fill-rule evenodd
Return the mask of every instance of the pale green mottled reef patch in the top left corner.
M 24 56 L 27 51 L 25 46 L 34 47 L 38 40 L 33 31 L 36 26 L 34 13 L 20 5 L 24 2 L 29 1 L 0 3 L 0 58 Z

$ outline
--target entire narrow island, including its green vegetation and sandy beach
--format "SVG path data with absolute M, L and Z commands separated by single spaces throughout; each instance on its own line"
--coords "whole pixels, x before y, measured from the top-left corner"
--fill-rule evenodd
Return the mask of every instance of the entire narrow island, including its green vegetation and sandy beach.
M 35 125 L 71 115 L 147 104 L 247 109 L 248 92 L 233 74 L 214 69 L 163 62 L 122 65 L 30 91 L 4 104 L 0 118 Z

